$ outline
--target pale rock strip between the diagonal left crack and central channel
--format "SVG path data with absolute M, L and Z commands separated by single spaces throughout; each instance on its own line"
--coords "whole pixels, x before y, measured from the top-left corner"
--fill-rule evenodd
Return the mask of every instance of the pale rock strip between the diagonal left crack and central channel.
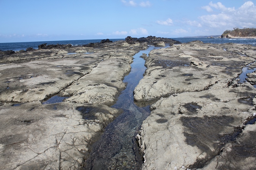
M 122 80 L 131 70 L 129 63 L 135 52 L 109 54 L 89 74 L 82 76 L 59 95 L 70 96 L 65 101 L 75 103 L 114 104 L 116 96 L 125 89 Z

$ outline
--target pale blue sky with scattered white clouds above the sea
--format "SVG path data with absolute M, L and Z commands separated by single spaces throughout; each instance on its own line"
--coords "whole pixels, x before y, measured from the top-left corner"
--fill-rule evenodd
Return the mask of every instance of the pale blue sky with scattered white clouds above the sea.
M 0 0 L 0 43 L 221 35 L 256 28 L 256 0 Z

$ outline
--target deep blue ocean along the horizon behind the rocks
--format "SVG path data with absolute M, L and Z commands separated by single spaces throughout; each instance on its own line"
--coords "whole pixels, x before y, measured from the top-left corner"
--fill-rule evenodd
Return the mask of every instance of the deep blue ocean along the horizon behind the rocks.
M 224 43 L 237 43 L 237 44 L 251 44 L 256 46 L 256 39 L 229 39 L 229 38 L 171 38 L 182 43 L 191 42 L 191 41 L 202 41 L 204 43 L 213 43 L 213 44 L 224 44 Z M 38 42 L 8 42 L 0 43 L 0 50 L 26 50 L 29 47 L 38 49 L 38 45 L 45 44 L 72 44 L 74 45 L 84 45 L 89 43 L 101 42 L 102 39 L 90 39 L 90 40 L 70 40 L 70 41 L 38 41 Z M 119 41 L 125 39 L 110 39 L 111 41 Z

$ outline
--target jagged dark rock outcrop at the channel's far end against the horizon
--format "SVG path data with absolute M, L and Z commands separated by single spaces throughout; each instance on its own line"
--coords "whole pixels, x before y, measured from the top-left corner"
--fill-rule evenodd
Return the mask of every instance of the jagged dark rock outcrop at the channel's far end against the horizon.
M 128 36 L 125 38 L 125 41 L 128 44 L 136 44 L 137 42 L 147 42 L 149 44 L 154 45 L 156 42 L 164 42 L 166 44 L 181 44 L 181 42 L 170 39 L 170 38 L 161 38 L 161 37 L 155 37 L 155 36 L 148 36 L 148 37 L 141 37 L 141 38 L 133 38 L 131 36 Z

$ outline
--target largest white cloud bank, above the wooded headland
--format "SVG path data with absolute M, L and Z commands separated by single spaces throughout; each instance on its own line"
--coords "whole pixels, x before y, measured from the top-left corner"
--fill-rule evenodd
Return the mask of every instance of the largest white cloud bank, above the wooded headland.
M 186 25 L 204 28 L 204 33 L 215 32 L 223 33 L 224 30 L 238 28 L 256 27 L 256 6 L 251 1 L 243 3 L 239 8 L 226 7 L 222 3 L 209 3 L 209 6 L 203 6 L 208 12 L 214 14 L 199 16 L 198 20 L 185 20 L 182 23 Z

